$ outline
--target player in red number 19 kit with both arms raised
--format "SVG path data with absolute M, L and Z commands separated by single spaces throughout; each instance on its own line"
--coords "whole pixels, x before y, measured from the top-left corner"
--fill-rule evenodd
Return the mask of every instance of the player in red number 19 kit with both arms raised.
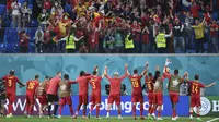
M 128 78 L 131 82 L 132 86 L 132 93 L 131 93 L 131 102 L 132 102 L 132 115 L 136 120 L 136 105 L 137 102 L 140 102 L 140 119 L 145 120 L 143 118 L 143 95 L 142 95 L 142 88 L 141 88 L 141 78 L 146 75 L 148 68 L 148 62 L 146 63 L 146 69 L 143 72 L 138 75 L 138 70 L 134 70 L 134 75 L 130 75 L 130 73 L 127 70 Z

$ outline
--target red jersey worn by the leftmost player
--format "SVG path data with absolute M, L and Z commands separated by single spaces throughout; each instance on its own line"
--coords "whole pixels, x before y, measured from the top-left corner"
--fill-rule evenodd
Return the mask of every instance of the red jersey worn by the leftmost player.
M 5 81 L 5 90 L 7 93 L 15 93 L 16 91 L 16 82 L 19 82 L 19 78 L 16 76 L 7 75 L 2 77 L 3 81 Z

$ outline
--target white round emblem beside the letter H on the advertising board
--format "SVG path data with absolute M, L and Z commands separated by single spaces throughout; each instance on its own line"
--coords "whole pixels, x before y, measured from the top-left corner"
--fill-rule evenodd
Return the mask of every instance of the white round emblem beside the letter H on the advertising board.
M 200 115 L 206 115 L 210 112 L 211 110 L 211 103 L 210 100 L 206 97 L 200 97 Z M 197 114 L 197 109 L 196 107 L 194 108 L 195 113 Z

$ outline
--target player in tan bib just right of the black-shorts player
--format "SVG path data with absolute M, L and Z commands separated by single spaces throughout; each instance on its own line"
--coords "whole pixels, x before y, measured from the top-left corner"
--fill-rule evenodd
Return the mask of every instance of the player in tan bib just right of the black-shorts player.
M 71 84 L 77 84 L 74 81 L 69 80 L 69 75 L 64 75 L 64 81 L 59 83 L 59 114 L 58 118 L 61 118 L 61 111 L 65 105 L 69 106 L 70 113 L 73 115 L 72 100 L 71 100 Z

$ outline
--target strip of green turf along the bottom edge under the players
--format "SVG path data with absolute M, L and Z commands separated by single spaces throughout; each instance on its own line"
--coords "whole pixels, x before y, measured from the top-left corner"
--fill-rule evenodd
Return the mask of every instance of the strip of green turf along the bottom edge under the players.
M 206 122 L 208 120 L 212 120 L 214 118 L 201 118 L 203 121 L 201 122 Z M 171 122 L 171 118 L 163 118 L 163 121 L 161 122 Z M 32 119 L 26 119 L 24 117 L 13 117 L 11 119 L 7 119 L 7 118 L 0 118 L 0 122 L 158 122 L 158 121 L 153 121 L 153 120 L 132 120 L 130 117 L 124 117 L 123 120 L 118 120 L 115 117 L 110 118 L 108 120 L 105 119 L 105 117 L 102 117 L 101 120 L 95 120 L 94 118 L 91 118 L 89 120 L 84 120 L 82 118 L 78 118 L 78 119 L 72 119 L 70 117 L 62 117 L 61 119 L 47 119 L 47 118 L 43 118 L 39 119 L 37 117 L 32 118 Z M 191 121 L 188 118 L 180 118 L 177 121 L 175 122 L 197 122 L 196 118 L 193 119 L 193 121 Z

